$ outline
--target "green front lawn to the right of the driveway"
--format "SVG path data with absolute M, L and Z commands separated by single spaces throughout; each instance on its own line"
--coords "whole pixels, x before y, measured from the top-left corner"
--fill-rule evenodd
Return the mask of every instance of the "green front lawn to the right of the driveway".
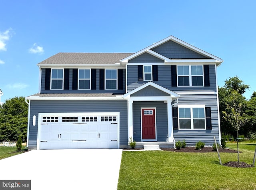
M 252 164 L 254 151 L 240 149 L 240 161 Z M 236 153 L 220 156 L 222 163 L 237 161 Z M 221 166 L 217 152 L 123 152 L 118 190 L 124 189 L 250 190 L 256 189 L 256 168 Z

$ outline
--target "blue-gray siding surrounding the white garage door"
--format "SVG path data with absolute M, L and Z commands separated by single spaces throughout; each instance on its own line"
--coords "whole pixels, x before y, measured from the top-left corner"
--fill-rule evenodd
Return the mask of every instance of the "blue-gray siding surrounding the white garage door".
M 32 100 L 30 107 L 29 148 L 36 148 L 38 113 L 120 112 L 120 146 L 128 142 L 126 100 Z M 36 126 L 32 126 L 33 116 Z

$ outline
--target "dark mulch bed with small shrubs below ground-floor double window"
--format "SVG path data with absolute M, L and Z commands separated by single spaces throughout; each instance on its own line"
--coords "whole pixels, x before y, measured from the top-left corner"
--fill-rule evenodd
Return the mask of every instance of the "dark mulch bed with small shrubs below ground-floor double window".
M 174 149 L 174 148 L 160 148 L 160 149 L 164 151 L 171 151 L 171 152 L 217 152 L 212 150 L 212 147 L 204 147 L 201 150 L 196 150 L 195 147 L 185 147 L 185 148 L 180 148 L 180 150 Z M 219 152 L 237 153 L 236 150 L 231 150 L 228 148 L 225 148 L 225 149 L 220 148 Z

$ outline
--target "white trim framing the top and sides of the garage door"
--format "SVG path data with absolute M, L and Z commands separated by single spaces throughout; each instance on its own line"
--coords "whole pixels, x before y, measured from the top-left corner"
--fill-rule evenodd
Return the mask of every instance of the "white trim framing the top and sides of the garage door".
M 38 129 L 36 150 L 40 150 L 41 127 L 43 116 L 116 116 L 117 117 L 117 148 L 120 148 L 120 112 L 76 112 L 76 113 L 38 113 Z M 58 122 L 61 122 L 59 120 Z M 33 126 L 34 127 L 34 126 Z

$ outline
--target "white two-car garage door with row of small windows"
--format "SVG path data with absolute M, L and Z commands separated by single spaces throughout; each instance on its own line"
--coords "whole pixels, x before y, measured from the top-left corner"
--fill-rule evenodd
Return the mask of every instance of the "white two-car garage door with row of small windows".
M 51 114 L 39 120 L 38 149 L 118 148 L 118 115 Z

